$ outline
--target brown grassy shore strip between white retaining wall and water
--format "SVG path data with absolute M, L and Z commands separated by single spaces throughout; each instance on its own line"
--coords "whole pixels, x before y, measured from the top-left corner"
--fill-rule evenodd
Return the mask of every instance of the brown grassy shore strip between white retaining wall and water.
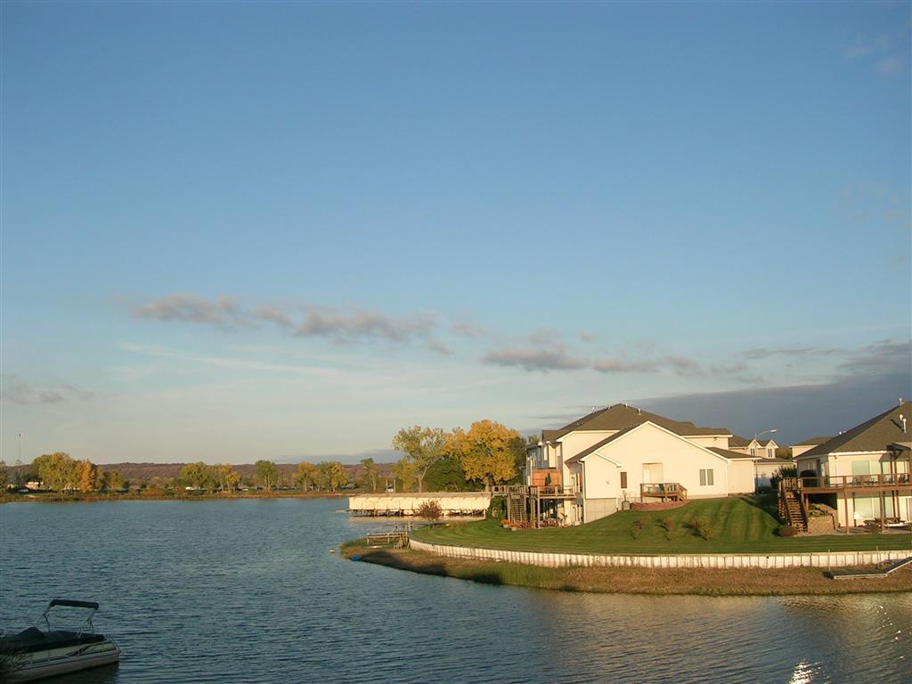
M 834 580 L 819 568 L 734 570 L 641 567 L 543 567 L 449 558 L 412 549 L 340 547 L 344 558 L 421 575 L 551 591 L 644 596 L 841 596 L 912 592 L 912 567 L 876 579 Z

